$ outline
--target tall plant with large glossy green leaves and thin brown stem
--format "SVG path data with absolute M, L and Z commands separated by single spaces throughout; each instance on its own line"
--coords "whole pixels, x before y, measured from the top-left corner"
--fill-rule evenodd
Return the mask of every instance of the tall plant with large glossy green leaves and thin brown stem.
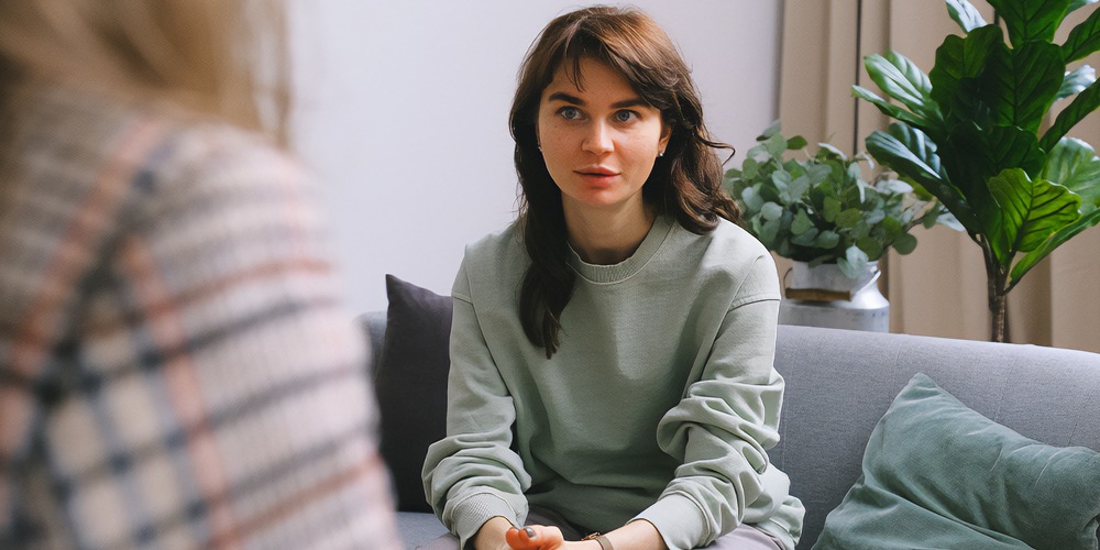
M 1007 297 L 1059 245 L 1100 221 L 1100 158 L 1069 130 L 1100 107 L 1088 65 L 1100 11 L 1054 42 L 1066 15 L 1097 0 L 989 0 L 1004 32 L 967 0 L 947 0 L 948 35 L 924 74 L 895 52 L 870 55 L 871 80 L 897 103 L 853 87 L 897 122 L 867 151 L 934 195 L 980 248 L 991 340 L 1005 340 Z M 1055 103 L 1068 101 L 1050 122 Z

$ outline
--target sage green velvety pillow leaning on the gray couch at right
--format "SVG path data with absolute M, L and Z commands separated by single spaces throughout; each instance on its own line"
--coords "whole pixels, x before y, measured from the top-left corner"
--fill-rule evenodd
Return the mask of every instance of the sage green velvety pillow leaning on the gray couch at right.
M 1097 549 L 1100 453 L 1027 439 L 917 374 L 814 549 Z

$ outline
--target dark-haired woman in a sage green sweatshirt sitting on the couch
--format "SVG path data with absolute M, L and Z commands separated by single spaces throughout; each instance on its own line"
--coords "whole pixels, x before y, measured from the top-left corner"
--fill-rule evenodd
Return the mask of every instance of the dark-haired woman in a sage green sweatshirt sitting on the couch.
M 802 506 L 767 454 L 776 267 L 733 223 L 675 47 L 636 10 L 562 15 L 510 121 L 519 218 L 453 288 L 436 543 L 793 548 Z

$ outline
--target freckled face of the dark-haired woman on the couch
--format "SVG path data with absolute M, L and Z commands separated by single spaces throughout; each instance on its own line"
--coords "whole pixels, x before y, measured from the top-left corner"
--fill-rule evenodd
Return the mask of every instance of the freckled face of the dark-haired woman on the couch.
M 559 67 L 539 102 L 539 144 L 563 208 L 642 215 L 641 187 L 670 130 L 617 69 L 582 57 L 579 80 L 583 89 Z

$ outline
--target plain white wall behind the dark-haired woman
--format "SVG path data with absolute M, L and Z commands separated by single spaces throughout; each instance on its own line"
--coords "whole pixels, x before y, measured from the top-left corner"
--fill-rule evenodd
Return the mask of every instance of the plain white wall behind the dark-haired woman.
M 747 151 L 778 112 L 782 0 L 634 3 L 694 68 L 711 131 Z M 385 309 L 387 273 L 447 294 L 463 245 L 512 221 L 516 70 L 542 26 L 578 6 L 294 4 L 295 141 L 326 185 L 355 311 Z

